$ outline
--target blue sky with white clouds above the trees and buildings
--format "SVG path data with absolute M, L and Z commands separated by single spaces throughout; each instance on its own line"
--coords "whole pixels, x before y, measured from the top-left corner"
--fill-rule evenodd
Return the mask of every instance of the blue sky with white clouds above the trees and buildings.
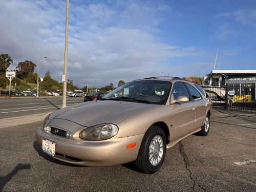
M 61 82 L 66 1 L 1 0 L 0 53 Z M 68 77 L 83 87 L 256 70 L 256 1 L 70 0 Z M 35 69 L 35 72 L 37 69 Z

